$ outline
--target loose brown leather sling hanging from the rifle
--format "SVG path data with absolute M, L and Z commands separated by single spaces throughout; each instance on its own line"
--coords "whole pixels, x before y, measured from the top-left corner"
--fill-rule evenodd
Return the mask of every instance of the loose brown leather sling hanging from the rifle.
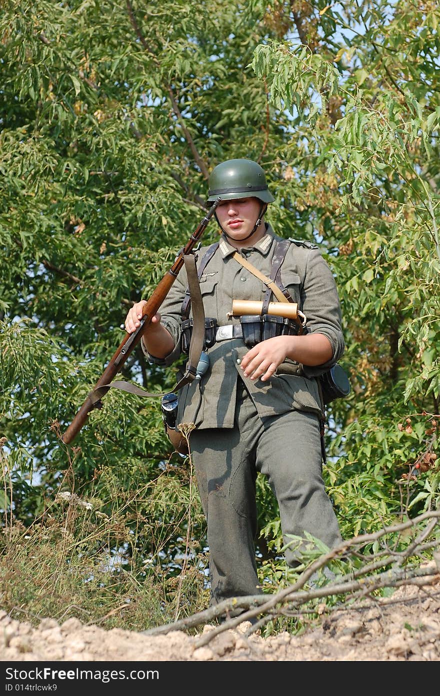
M 194 254 L 185 254 L 183 257 L 185 269 L 187 271 L 189 288 L 191 291 L 191 300 L 193 303 L 193 331 L 191 335 L 191 343 L 189 344 L 188 362 L 185 368 L 185 373 L 171 391 L 177 391 L 185 384 L 192 382 L 196 377 L 197 365 L 203 351 L 203 343 L 205 342 L 205 310 L 203 308 L 203 299 L 198 283 L 196 259 Z M 109 388 L 121 389 L 130 394 L 141 397 L 162 397 L 163 393 L 148 392 L 136 384 L 125 380 L 112 381 L 110 384 L 103 384 L 97 389 L 93 389 L 88 395 L 92 404 L 98 404 Z M 166 392 L 168 393 L 168 392 Z M 96 406 L 95 406 L 96 407 Z

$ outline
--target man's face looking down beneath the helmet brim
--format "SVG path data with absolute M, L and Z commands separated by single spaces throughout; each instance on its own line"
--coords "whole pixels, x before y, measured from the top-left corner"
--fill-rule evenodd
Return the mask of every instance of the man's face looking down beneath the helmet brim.
M 237 198 L 236 200 L 223 200 L 217 206 L 217 219 L 228 237 L 240 242 L 245 239 L 260 214 L 261 203 L 258 198 Z M 246 240 L 246 243 L 256 242 L 260 237 L 265 235 L 264 225 L 260 225 L 252 238 Z

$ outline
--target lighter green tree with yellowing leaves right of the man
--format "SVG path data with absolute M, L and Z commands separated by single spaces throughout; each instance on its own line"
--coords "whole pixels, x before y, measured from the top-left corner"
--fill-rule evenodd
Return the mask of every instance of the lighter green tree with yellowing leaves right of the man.
M 430 2 L 272 8 L 278 38 L 252 65 L 292 115 L 285 198 L 340 288 L 353 393 L 332 409 L 330 477 L 341 518 L 355 493 L 358 533 L 439 496 L 440 15 Z

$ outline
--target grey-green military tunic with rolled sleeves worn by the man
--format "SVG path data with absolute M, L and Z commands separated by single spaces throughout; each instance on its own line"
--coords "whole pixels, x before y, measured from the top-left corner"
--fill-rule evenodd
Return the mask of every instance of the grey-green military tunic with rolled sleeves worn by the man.
M 272 267 L 276 241 L 281 240 L 265 223 L 266 233 L 255 245 L 239 253 L 266 276 Z M 198 262 L 207 247 L 198 251 Z M 214 317 L 219 325 L 239 324 L 239 317 L 230 317 L 233 299 L 260 300 L 266 285 L 242 267 L 234 258 L 237 251 L 222 235 L 219 248 L 200 278 L 206 317 Z M 320 395 L 315 376 L 335 364 L 344 350 L 340 303 L 336 283 L 322 255 L 314 244 L 292 242 L 281 267 L 281 280 L 294 302 L 306 315 L 308 333 L 327 336 L 333 349 L 331 361 L 320 367 L 305 367 L 287 360 L 269 380 L 252 381 L 243 377 L 239 365 L 248 351 L 242 338 L 217 342 L 209 351 L 210 367 L 201 382 L 182 388 L 179 395 L 177 423 L 194 422 L 198 429 L 232 428 L 234 425 L 237 377 L 245 383 L 260 418 L 280 415 L 292 409 L 320 414 Z M 184 268 L 162 303 L 161 322 L 171 333 L 175 349 L 165 360 L 149 356 L 150 361 L 171 365 L 180 357 L 181 307 L 187 289 Z

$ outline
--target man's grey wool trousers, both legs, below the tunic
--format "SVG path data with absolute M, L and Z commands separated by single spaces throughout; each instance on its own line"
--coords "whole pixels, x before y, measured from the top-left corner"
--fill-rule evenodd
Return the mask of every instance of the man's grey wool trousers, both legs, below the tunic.
M 320 422 L 290 411 L 260 418 L 241 379 L 235 425 L 191 433 L 191 454 L 207 519 L 211 604 L 259 594 L 255 537 L 256 477 L 266 475 L 278 501 L 284 543 L 309 532 L 329 548 L 342 541 L 324 488 Z M 297 564 L 288 548 L 285 560 Z

